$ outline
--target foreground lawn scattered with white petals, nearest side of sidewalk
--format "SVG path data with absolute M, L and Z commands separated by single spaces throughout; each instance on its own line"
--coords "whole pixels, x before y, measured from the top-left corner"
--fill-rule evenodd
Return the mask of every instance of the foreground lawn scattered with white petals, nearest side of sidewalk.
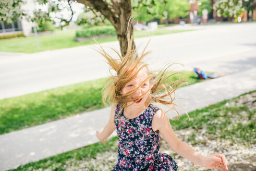
M 256 91 L 210 105 L 183 115 L 177 121 L 170 120 L 176 135 L 203 155 L 222 153 L 229 164 L 254 156 Z M 45 158 L 19 166 L 14 170 L 110 170 L 117 163 L 117 137 L 106 145 L 95 143 L 77 150 Z M 185 160 L 173 152 L 162 139 L 161 152 L 171 155 L 179 170 L 207 170 Z

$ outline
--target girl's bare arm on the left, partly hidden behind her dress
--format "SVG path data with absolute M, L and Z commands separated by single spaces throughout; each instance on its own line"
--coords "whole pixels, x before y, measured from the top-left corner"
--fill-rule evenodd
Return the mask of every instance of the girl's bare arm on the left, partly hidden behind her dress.
M 109 137 L 111 133 L 116 129 L 116 126 L 114 124 L 115 109 L 116 105 L 111 107 L 110 118 L 108 120 L 107 125 L 104 127 L 103 131 L 96 131 L 97 138 L 100 140 L 100 142 L 104 142 L 104 144 L 106 144 L 107 137 Z

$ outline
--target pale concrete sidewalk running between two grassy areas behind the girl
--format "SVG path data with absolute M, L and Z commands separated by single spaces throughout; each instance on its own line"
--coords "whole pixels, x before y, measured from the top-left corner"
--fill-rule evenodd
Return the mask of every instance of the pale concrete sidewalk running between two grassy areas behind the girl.
M 177 99 L 176 104 L 191 112 L 255 90 L 255 73 L 256 68 L 253 68 L 180 88 L 176 92 L 176 98 L 189 100 Z M 104 108 L 1 135 L 0 170 L 16 168 L 21 164 L 97 142 L 95 131 L 105 126 L 108 113 L 109 108 Z M 174 113 L 167 115 L 170 117 Z

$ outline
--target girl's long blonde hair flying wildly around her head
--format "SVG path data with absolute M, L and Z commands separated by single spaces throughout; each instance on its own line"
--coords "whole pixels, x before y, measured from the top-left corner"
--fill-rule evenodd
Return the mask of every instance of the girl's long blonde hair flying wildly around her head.
M 94 48 L 94 50 L 99 52 L 103 57 L 107 59 L 107 64 L 110 66 L 109 73 L 111 73 L 111 69 L 115 71 L 115 74 L 110 76 L 107 79 L 105 86 L 102 89 L 102 101 L 105 106 L 119 104 L 121 107 L 120 111 L 122 111 L 123 108 L 128 106 L 127 105 L 128 102 L 133 102 L 133 101 L 137 102 L 143 96 L 149 94 L 147 99 L 148 103 L 162 103 L 164 105 L 167 105 L 168 107 L 170 107 L 168 111 L 170 111 L 171 109 L 174 109 L 176 111 L 178 115 L 177 117 L 178 119 L 179 113 L 175 109 L 175 106 L 181 109 L 183 108 L 176 105 L 173 102 L 175 99 L 175 91 L 177 90 L 177 88 L 179 88 L 183 84 L 187 84 L 187 82 L 185 82 L 184 79 L 180 79 L 180 80 L 175 80 L 175 81 L 166 83 L 166 80 L 169 77 L 172 77 L 175 74 L 181 73 L 181 72 L 175 72 L 174 74 L 169 74 L 168 72 L 169 68 L 176 63 L 167 64 L 158 72 L 152 73 L 149 71 L 147 67 L 148 64 L 144 63 L 143 61 L 143 58 L 151 52 L 151 51 L 145 52 L 145 49 L 147 48 L 149 42 L 144 47 L 142 53 L 139 56 L 137 56 L 138 52 L 137 52 L 137 49 L 135 48 L 135 45 L 132 44 L 133 36 L 129 29 L 131 27 L 131 22 L 132 22 L 132 19 L 129 19 L 128 25 L 127 25 L 128 27 L 126 31 L 128 47 L 127 47 L 127 53 L 124 57 L 122 57 L 121 54 L 119 54 L 112 47 L 109 47 L 109 48 L 111 48 L 111 50 L 113 50 L 119 58 L 113 58 L 112 56 L 107 54 L 101 45 L 99 48 L 97 47 Z M 130 82 L 132 79 L 134 79 L 138 75 L 138 72 L 142 69 L 147 70 L 148 72 L 147 79 L 145 79 L 138 87 L 122 95 L 120 93 L 121 90 L 123 90 L 125 85 L 128 82 Z M 135 99 L 127 98 L 133 93 L 135 93 L 147 80 L 150 81 L 150 86 L 151 86 L 151 89 L 148 92 L 142 94 L 141 96 L 138 96 Z M 177 119 L 173 119 L 173 120 L 177 120 Z

